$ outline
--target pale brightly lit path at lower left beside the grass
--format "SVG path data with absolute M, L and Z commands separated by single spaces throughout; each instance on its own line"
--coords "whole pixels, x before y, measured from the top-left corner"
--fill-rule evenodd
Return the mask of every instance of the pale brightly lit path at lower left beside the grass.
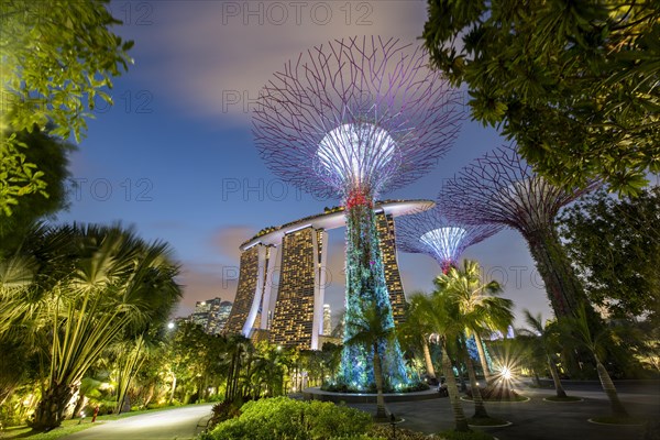
M 106 421 L 65 440 L 188 440 L 205 427 L 213 404 L 186 406 Z

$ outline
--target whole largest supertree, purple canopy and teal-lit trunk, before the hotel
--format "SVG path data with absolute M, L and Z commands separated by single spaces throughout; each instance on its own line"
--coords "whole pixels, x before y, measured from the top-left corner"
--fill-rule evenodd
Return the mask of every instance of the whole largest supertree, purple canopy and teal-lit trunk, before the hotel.
M 373 201 L 435 166 L 463 117 L 458 91 L 427 64 L 422 48 L 398 40 L 336 40 L 285 64 L 257 100 L 253 131 L 271 169 L 345 207 L 344 341 L 370 304 L 394 328 Z M 389 385 L 405 386 L 396 339 L 377 345 Z M 373 350 L 344 344 L 340 380 L 364 389 L 374 383 L 372 361 Z

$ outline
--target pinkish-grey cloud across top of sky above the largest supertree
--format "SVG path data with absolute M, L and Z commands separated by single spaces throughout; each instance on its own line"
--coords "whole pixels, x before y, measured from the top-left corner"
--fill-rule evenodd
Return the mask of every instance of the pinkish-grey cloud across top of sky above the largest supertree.
M 426 20 L 426 2 L 410 0 L 150 4 L 142 13 L 151 24 L 124 26 L 136 43 L 131 75 L 189 117 L 237 122 L 249 121 L 258 90 L 301 52 L 355 35 L 414 43 Z

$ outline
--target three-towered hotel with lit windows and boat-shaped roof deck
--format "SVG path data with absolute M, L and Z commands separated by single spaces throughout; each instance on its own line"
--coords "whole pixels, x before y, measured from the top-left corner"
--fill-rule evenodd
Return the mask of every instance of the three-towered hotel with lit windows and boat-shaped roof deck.
M 374 206 L 395 322 L 404 317 L 405 296 L 394 219 L 432 206 L 430 200 L 383 201 Z M 283 346 L 321 349 L 328 231 L 344 226 L 340 207 L 264 229 L 241 244 L 239 286 L 224 332 Z M 279 279 L 275 280 L 277 275 Z

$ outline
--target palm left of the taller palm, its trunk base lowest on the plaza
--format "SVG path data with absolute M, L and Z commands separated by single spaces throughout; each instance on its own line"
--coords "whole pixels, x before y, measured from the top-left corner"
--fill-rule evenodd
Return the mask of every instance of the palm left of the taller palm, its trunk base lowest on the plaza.
M 457 301 L 444 292 L 436 290 L 432 296 L 416 294 L 410 298 L 419 305 L 420 323 L 435 329 L 435 334 L 442 346 L 442 373 L 447 380 L 449 402 L 454 416 L 457 431 L 470 431 L 468 418 L 461 406 L 459 387 L 453 373 L 453 366 L 449 356 L 450 348 L 455 343 L 459 334 L 463 331 L 463 323 L 455 320 L 458 316 Z

